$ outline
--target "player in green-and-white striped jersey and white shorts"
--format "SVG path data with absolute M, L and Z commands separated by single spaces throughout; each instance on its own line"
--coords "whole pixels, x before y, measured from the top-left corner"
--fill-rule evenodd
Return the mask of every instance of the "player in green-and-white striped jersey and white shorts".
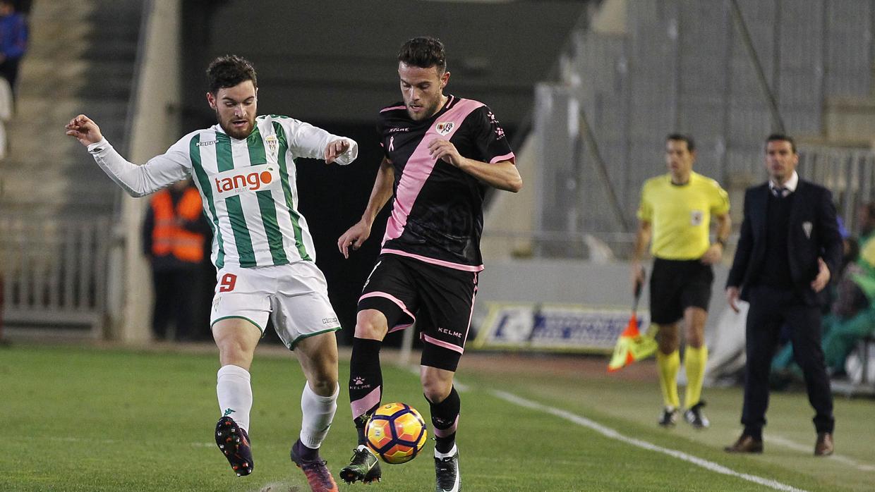
M 300 438 L 291 459 L 314 491 L 337 490 L 318 448 L 337 409 L 337 315 L 304 217 L 297 211 L 295 158 L 348 164 L 352 139 L 286 116 L 257 116 L 255 69 L 234 55 L 207 69 L 207 103 L 218 124 L 194 131 L 143 165 L 126 161 L 80 114 L 66 126 L 109 177 L 133 197 L 193 175 L 214 232 L 218 285 L 211 326 L 221 369 L 216 443 L 237 475 L 253 470 L 249 366 L 268 318 L 307 378 Z

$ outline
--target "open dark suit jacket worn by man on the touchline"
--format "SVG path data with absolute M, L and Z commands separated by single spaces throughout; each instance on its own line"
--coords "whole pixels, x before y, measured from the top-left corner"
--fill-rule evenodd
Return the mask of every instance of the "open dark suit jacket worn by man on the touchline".
M 726 287 L 740 287 L 741 299 L 749 301 L 754 275 L 766 258 L 766 211 L 771 191 L 768 182 L 745 192 L 745 219 L 741 224 L 739 246 Z M 823 258 L 830 275 L 836 278 L 842 260 L 842 237 L 838 232 L 836 206 L 832 193 L 819 184 L 799 180 L 794 191 L 788 224 L 787 254 L 794 288 L 809 305 L 821 302 L 810 283 L 817 276 L 817 259 Z M 822 291 L 823 292 L 823 291 Z

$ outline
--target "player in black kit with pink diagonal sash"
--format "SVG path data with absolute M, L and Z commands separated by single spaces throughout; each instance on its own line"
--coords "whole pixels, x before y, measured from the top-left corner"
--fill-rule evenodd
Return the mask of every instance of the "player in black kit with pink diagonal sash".
M 358 249 L 377 212 L 394 196 L 382 250 L 365 282 L 355 323 L 349 398 L 359 446 L 340 471 L 346 482 L 381 477 L 365 446 L 365 424 L 380 405 L 380 347 L 389 331 L 417 322 L 422 330 L 420 380 L 434 426 L 437 492 L 458 491 L 459 398 L 452 385 L 471 324 L 480 233 L 489 186 L 520 191 L 514 152 L 482 102 L 444 95 L 450 80 L 444 45 L 413 38 L 398 53 L 403 101 L 380 111 L 383 160 L 361 220 L 338 240 Z

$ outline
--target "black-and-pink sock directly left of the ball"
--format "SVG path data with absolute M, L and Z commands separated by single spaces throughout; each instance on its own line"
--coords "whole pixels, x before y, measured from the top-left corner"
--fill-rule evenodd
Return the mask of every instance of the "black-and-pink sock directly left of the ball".
M 353 338 L 353 356 L 349 361 L 349 401 L 353 409 L 355 430 L 359 444 L 365 443 L 367 418 L 380 406 L 382 371 L 380 347 L 382 342 L 367 338 Z

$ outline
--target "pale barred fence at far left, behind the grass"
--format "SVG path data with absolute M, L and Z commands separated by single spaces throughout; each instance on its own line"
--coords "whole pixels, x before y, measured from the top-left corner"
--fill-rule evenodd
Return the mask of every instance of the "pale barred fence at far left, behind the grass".
M 53 335 L 102 337 L 109 238 L 109 217 L 0 219 L 6 329 L 38 335 L 52 327 Z

